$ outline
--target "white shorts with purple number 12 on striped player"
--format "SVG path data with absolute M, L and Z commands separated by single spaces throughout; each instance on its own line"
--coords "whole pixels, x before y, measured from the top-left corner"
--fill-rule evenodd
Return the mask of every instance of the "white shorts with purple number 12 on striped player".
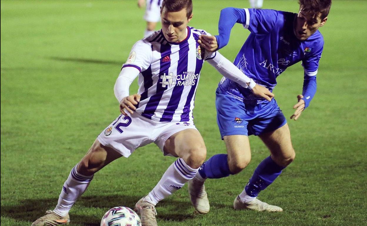
M 97 137 L 102 145 L 115 149 L 126 158 L 138 147 L 152 142 L 163 155 L 170 155 L 163 151 L 164 142 L 179 131 L 196 129 L 193 122 L 155 122 L 138 112 L 132 115 L 127 112 L 127 115 L 121 114 Z

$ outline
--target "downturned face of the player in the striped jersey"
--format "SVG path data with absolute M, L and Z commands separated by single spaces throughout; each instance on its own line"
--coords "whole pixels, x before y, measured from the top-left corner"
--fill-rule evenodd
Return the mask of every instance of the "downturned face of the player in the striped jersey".
M 186 16 L 186 8 L 178 12 L 161 9 L 162 32 L 169 42 L 180 42 L 186 38 L 186 27 L 192 18 Z

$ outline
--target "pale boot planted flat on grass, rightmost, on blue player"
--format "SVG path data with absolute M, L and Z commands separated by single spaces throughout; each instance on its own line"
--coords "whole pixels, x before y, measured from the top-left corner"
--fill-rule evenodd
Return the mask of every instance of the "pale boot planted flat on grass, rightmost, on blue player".
M 236 197 L 233 202 L 233 208 L 235 210 L 256 210 L 256 211 L 268 211 L 268 212 L 281 212 L 282 208 L 276 205 L 269 205 L 268 203 L 264 203 L 258 199 L 254 199 L 252 201 L 248 201 L 247 203 L 243 203 L 239 196 Z

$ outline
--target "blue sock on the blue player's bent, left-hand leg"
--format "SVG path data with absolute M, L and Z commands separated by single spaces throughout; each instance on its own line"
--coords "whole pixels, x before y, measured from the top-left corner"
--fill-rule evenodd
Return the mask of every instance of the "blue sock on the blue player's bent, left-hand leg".
M 202 178 L 228 177 L 229 174 L 232 174 L 229 171 L 228 155 L 218 154 L 212 156 L 200 166 L 199 174 Z

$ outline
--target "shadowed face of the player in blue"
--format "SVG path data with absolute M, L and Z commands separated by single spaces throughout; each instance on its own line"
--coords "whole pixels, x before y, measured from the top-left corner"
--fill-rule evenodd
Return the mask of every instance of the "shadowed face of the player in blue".
M 312 36 L 319 27 L 324 26 L 327 17 L 321 20 L 320 15 L 321 13 L 316 17 L 307 15 L 303 13 L 302 10 L 298 12 L 297 20 L 294 25 L 294 33 L 299 40 L 306 40 L 308 37 Z

